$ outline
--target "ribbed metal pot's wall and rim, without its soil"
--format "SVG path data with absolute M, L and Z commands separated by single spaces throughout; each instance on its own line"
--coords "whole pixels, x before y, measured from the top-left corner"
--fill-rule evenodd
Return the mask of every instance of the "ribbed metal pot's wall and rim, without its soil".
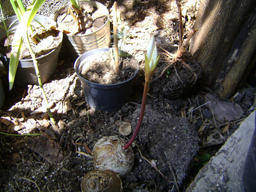
M 99 28 L 98 30 L 83 34 L 83 35 L 63 35 L 63 44 L 62 49 L 69 54 L 70 57 L 76 59 L 87 50 L 95 49 L 95 48 L 104 48 L 110 47 L 110 21 L 109 21 L 109 12 L 108 9 L 101 3 L 95 1 L 79 1 L 91 4 L 95 8 L 99 9 L 104 15 L 107 16 L 107 21 L 105 24 Z M 60 12 L 65 9 L 62 7 L 59 9 L 55 16 L 54 20 L 57 22 L 57 17 L 59 16 Z

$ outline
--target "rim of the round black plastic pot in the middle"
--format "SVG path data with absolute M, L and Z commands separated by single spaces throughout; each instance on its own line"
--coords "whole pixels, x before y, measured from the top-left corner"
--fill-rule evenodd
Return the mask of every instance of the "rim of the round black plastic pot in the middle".
M 108 86 L 108 87 L 111 87 L 111 86 L 118 86 L 118 85 L 122 85 L 122 84 L 124 84 L 124 83 L 126 83 L 126 82 L 128 82 L 128 81 L 131 81 L 132 79 L 134 79 L 134 77 L 136 76 L 136 74 L 138 73 L 138 70 L 139 70 L 139 63 L 138 63 L 138 61 L 137 61 L 137 69 L 136 69 L 136 71 L 134 72 L 134 74 L 133 74 L 133 76 L 130 78 L 130 79 L 127 79 L 127 80 L 125 80 L 125 81 L 123 81 L 123 82 L 120 82 L 120 83 L 116 83 L 116 84 L 100 84 L 100 83 L 94 83 L 94 82 L 91 82 L 91 81 L 89 81 L 89 80 L 87 80 L 87 79 L 84 79 L 81 75 L 80 75 L 80 73 L 79 73 L 79 66 L 80 66 L 80 64 L 81 64 L 81 62 L 80 62 L 80 58 L 81 57 L 84 57 L 84 55 L 89 55 L 89 54 L 91 54 L 92 52 L 96 52 L 95 54 L 98 54 L 97 52 L 107 52 L 108 50 L 110 50 L 110 49 L 112 49 L 112 48 L 97 48 L 97 49 L 92 49 L 92 50 L 88 50 L 87 52 L 85 52 L 85 53 L 83 53 L 82 55 L 80 55 L 76 60 L 75 60 L 75 62 L 74 62 L 74 70 L 75 70 L 75 73 L 76 73 L 76 75 L 78 75 L 78 77 L 80 78 L 80 79 L 82 79 L 83 81 L 86 81 L 86 82 L 88 82 L 88 83 L 90 83 L 90 84 L 92 84 L 92 85 L 95 85 L 95 86 Z M 94 55 L 94 54 L 93 54 Z M 90 55 L 91 56 L 91 55 Z M 81 60 L 82 61 L 82 60 Z

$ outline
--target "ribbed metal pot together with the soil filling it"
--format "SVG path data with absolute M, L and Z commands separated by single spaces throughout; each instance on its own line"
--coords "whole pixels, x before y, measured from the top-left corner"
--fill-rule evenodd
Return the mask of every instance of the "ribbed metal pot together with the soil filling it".
M 76 59 L 87 50 L 110 47 L 109 11 L 95 1 L 79 1 L 59 9 L 54 20 L 64 34 L 63 50 Z

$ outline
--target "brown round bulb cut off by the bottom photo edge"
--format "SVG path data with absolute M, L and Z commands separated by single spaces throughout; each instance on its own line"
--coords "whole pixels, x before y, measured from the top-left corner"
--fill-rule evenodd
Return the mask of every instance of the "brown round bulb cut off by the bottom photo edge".
M 83 192 L 121 192 L 122 181 L 110 170 L 92 170 L 83 176 L 81 189 Z

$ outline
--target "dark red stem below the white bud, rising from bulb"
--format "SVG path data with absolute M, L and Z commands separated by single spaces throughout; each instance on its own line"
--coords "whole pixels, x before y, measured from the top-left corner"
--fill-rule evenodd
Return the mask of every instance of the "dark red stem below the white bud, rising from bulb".
M 133 136 L 129 140 L 129 142 L 124 146 L 124 150 L 127 149 L 128 147 L 130 147 L 130 145 L 132 145 L 132 143 L 134 142 L 134 140 L 139 132 L 140 125 L 142 125 L 142 120 L 144 117 L 144 112 L 145 112 L 145 107 L 146 107 L 147 94 L 148 94 L 148 84 L 149 84 L 149 81 L 145 81 L 143 97 L 142 97 L 142 108 L 140 109 L 139 120 L 138 120 L 136 129 L 133 133 Z

